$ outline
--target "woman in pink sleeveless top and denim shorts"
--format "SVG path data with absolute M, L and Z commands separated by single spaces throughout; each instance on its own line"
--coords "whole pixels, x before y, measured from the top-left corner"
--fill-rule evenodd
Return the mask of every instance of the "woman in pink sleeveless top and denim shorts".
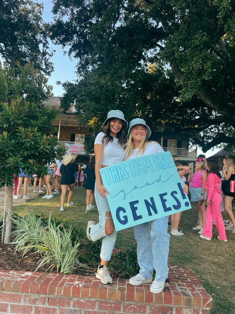
M 193 230 L 199 230 L 199 235 L 203 234 L 202 228 L 206 223 L 206 179 L 207 172 L 205 170 L 205 161 L 199 158 L 195 163 L 194 174 L 188 175 L 188 182 L 191 192 L 191 201 L 195 202 L 197 214 L 199 218 L 200 225 L 192 228 Z

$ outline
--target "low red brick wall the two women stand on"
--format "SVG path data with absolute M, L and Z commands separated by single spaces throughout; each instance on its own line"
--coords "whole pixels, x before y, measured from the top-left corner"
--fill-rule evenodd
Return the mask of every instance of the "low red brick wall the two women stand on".
M 0 313 L 210 314 L 212 298 L 190 270 L 172 266 L 169 279 L 154 295 L 150 285 L 119 278 L 103 285 L 91 276 L 0 270 Z

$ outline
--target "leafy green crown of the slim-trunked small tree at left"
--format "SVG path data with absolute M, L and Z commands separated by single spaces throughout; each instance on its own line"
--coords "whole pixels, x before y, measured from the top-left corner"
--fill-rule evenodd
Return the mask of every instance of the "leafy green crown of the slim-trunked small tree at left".
M 0 186 L 11 185 L 19 167 L 46 174 L 46 164 L 63 154 L 53 136 L 58 112 L 43 104 L 51 88 L 31 64 L 0 67 Z

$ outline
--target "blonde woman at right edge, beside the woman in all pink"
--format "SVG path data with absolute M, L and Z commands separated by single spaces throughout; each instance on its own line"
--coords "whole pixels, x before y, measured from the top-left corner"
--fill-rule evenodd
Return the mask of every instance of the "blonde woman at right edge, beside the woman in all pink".
M 223 175 L 225 177 L 225 181 L 235 180 L 235 164 L 232 158 L 225 157 L 223 160 Z M 223 186 L 223 183 L 222 183 Z M 223 188 L 223 187 L 222 187 Z M 224 190 L 224 189 L 223 189 Z M 229 224 L 225 227 L 227 231 L 231 231 L 235 234 L 235 219 L 232 209 L 232 201 L 235 193 L 224 190 L 224 209 L 229 216 Z

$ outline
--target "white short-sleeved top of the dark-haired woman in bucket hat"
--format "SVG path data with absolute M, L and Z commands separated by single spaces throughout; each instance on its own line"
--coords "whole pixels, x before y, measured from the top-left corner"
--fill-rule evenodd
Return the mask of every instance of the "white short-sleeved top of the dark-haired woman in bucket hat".
M 102 165 L 110 166 L 111 164 L 118 163 L 124 159 L 124 149 L 118 144 L 118 139 L 114 138 L 112 142 L 107 145 L 103 143 L 104 132 L 97 134 L 95 139 L 95 144 L 100 144 L 104 146 Z

